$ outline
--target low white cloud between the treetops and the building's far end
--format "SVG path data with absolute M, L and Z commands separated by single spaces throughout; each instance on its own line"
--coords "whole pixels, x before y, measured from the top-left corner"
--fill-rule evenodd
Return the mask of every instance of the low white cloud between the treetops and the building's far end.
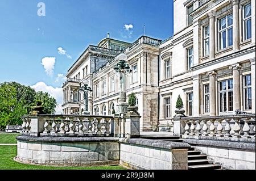
M 55 108 L 55 113 L 56 114 L 61 114 L 63 113 L 62 111 L 62 103 L 63 103 L 63 90 L 62 88 L 59 87 L 52 87 L 52 86 L 47 86 L 46 83 L 44 82 L 38 82 L 34 86 L 31 86 L 32 89 L 35 89 L 35 91 L 43 91 L 43 92 L 48 92 L 49 95 L 51 95 L 53 98 L 56 99 L 57 106 Z

